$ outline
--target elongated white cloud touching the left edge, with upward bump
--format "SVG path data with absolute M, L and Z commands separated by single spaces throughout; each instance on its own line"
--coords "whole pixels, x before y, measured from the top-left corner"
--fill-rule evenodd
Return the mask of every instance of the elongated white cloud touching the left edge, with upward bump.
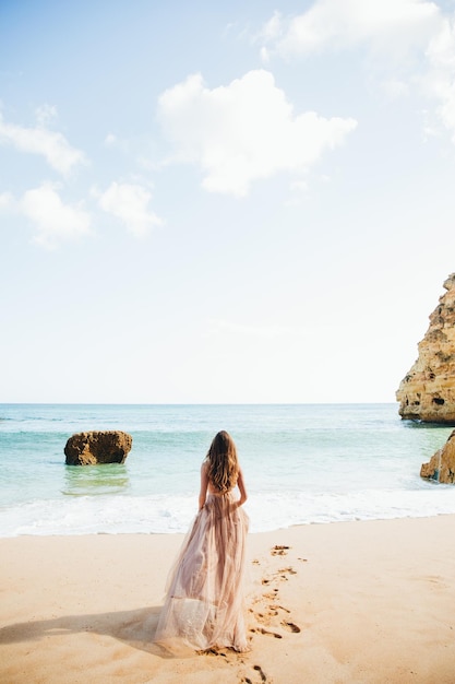
M 77 164 L 86 162 L 84 153 L 72 148 L 64 135 L 47 129 L 49 120 L 56 117 L 55 108 L 45 106 L 36 114 L 35 128 L 8 123 L 0 114 L 0 144 L 10 144 L 21 152 L 39 154 L 63 176 Z

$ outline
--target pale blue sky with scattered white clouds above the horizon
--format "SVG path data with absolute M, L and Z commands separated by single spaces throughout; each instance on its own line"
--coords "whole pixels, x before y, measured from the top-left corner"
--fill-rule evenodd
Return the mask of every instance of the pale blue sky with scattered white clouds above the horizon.
M 454 181 L 453 0 L 0 0 L 0 402 L 394 402 Z

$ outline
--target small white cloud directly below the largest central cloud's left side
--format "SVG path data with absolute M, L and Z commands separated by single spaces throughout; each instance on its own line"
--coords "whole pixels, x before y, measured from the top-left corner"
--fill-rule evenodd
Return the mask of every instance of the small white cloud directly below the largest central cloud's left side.
M 152 193 L 140 185 L 112 182 L 99 196 L 99 207 L 124 223 L 131 233 L 141 237 L 163 221 L 149 210 Z

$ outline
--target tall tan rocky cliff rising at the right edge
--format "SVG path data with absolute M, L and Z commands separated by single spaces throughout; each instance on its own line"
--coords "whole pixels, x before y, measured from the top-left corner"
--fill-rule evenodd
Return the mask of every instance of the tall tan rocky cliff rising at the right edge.
M 455 273 L 430 316 L 419 357 L 396 392 L 404 418 L 455 424 Z

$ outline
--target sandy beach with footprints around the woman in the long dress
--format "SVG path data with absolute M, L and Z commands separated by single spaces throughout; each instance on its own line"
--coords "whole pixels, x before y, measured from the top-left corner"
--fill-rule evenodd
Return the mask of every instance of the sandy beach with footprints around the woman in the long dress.
M 249 535 L 251 651 L 152 642 L 182 535 L 0 540 L 3 684 L 455 682 L 455 516 Z

